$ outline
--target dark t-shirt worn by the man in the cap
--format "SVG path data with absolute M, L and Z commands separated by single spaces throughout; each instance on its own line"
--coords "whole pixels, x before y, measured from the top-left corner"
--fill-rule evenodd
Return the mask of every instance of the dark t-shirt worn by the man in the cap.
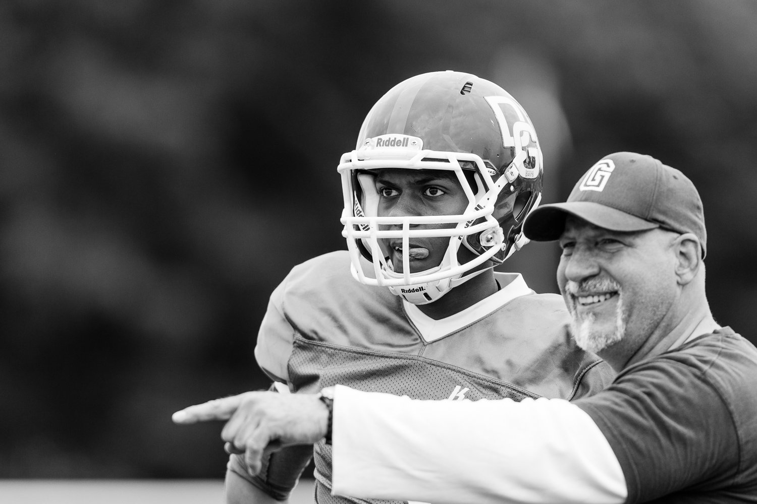
M 618 458 L 626 502 L 757 502 L 755 369 L 757 349 L 725 327 L 574 402 Z

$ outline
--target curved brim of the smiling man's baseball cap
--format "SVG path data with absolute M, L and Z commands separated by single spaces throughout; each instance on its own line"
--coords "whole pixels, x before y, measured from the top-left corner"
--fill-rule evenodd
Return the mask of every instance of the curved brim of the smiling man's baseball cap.
M 595 226 L 612 231 L 643 231 L 659 227 L 659 224 L 645 221 L 611 206 L 593 201 L 571 201 L 540 206 L 528 214 L 523 223 L 523 234 L 529 240 L 550 242 L 558 240 L 565 230 L 565 218 L 575 215 Z

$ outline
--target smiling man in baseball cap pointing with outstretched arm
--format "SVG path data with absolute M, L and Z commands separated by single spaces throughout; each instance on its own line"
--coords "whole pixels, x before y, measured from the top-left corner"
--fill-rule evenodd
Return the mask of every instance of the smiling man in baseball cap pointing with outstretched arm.
M 605 391 L 515 403 L 338 385 L 322 393 L 333 400 L 248 393 L 175 420 L 231 418 L 223 437 L 253 468 L 264 449 L 328 433 L 332 491 L 360 498 L 757 502 L 757 349 L 709 311 L 704 215 L 689 179 L 650 156 L 611 154 L 524 230 L 559 239 L 573 335 L 618 371 Z

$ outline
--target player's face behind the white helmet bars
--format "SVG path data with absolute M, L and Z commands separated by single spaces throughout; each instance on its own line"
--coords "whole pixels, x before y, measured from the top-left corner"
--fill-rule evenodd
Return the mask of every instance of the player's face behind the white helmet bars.
M 380 170 L 375 178 L 378 216 L 459 215 L 468 206 L 468 197 L 454 172 L 445 170 Z M 411 229 L 441 229 L 456 224 L 413 224 Z M 400 225 L 382 229 L 401 229 Z M 402 239 L 383 240 L 394 271 L 403 272 Z M 411 238 L 410 272 L 428 270 L 441 264 L 449 237 Z M 463 249 L 464 247 L 460 247 Z

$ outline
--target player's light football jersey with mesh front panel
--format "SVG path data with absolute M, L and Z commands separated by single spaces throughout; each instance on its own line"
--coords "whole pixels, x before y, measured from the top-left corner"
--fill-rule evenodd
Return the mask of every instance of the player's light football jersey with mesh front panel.
M 516 274 L 495 278 L 505 291 L 522 283 Z M 466 311 L 467 323 L 424 339 L 428 331 L 412 321 L 416 307 L 385 287 L 358 283 L 347 252 L 332 252 L 294 267 L 273 292 L 255 357 L 272 379 L 305 393 L 340 384 L 413 399 L 572 400 L 612 382 L 609 365 L 569 335 L 562 297 L 527 288 L 495 295 L 504 302 L 493 311 L 477 312 L 481 301 Z M 364 502 L 331 495 L 330 445 L 316 444 L 314 457 L 317 502 Z

